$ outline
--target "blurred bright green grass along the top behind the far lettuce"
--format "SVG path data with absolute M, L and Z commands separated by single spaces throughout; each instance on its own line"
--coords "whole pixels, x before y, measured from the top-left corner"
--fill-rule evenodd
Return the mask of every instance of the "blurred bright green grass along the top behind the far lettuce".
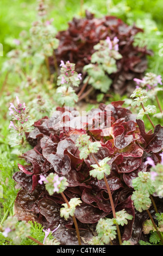
M 81 1 L 82 2 L 82 1 Z M 162 0 L 84 0 L 84 9 L 102 15 L 115 15 L 128 24 L 136 23 L 146 31 L 143 41 L 154 51 L 149 57 L 149 68 L 153 72 L 163 74 L 162 57 L 159 56 L 159 44 L 163 43 L 163 4 Z M 0 43 L 3 44 L 3 57 L 0 57 L 0 68 L 6 53 L 12 49 L 12 41 L 18 38 L 22 30 L 28 30 L 36 18 L 37 0 L 1 0 L 0 3 Z M 53 17 L 54 26 L 59 30 L 67 28 L 67 22 L 73 16 L 79 16 L 80 1 L 49 0 L 49 18 Z M 139 42 L 140 43 L 140 42 Z M 2 75 L 3 76 L 3 75 Z

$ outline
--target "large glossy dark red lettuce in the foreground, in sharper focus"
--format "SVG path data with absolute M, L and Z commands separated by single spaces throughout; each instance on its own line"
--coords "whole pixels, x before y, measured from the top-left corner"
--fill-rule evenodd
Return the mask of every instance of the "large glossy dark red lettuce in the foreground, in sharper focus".
M 77 197 L 82 200 L 75 216 L 83 237 L 91 237 L 90 230 L 96 227 L 95 224 L 100 218 L 112 216 L 105 182 L 90 176 L 91 165 L 95 164 L 94 159 L 91 156 L 85 160 L 79 158 L 76 139 L 86 133 L 92 141 L 101 143 L 95 153 L 96 159 L 101 161 L 105 157 L 110 158 L 108 164 L 111 172 L 106 176 L 106 180 L 110 186 L 115 210 L 125 209 L 134 217 L 121 230 L 122 239 L 131 239 L 136 244 L 141 236 L 141 225 L 136 221 L 140 219 L 141 214 L 137 215 L 131 201 L 134 190 L 132 180 L 138 176 L 139 171 L 149 170 L 145 165 L 147 157 L 151 157 L 155 163 L 160 162 L 158 153 L 163 147 L 163 128 L 158 125 L 153 133 L 146 133 L 143 121 L 135 120 L 131 111 L 123 108 L 122 104 L 122 101 L 112 102 L 109 105 L 100 104 L 99 108 L 92 109 L 87 115 L 89 123 L 93 120 L 90 130 L 85 126 L 85 118 L 82 118 L 76 109 L 58 108 L 51 118 L 43 117 L 35 122 L 34 130 L 26 134 L 33 149 L 22 155 L 27 165 L 18 164 L 19 170 L 13 176 L 21 188 L 16 204 L 22 209 L 20 212 L 27 211 L 27 217 L 31 213 L 32 218 L 37 219 L 45 228 L 54 228 L 60 223 L 60 232 L 67 236 L 67 240 L 60 237 L 63 245 L 75 240 L 72 218 L 65 221 L 60 217 L 59 212 L 64 200 L 60 194 L 48 194 L 45 185 L 38 182 L 40 174 L 47 176 L 54 172 L 67 178 L 68 186 L 64 192 L 67 199 Z M 71 116 L 72 121 L 66 126 L 62 118 L 65 112 Z M 98 128 L 95 123 L 99 122 L 100 114 L 102 121 Z M 82 127 L 77 128 L 77 120 L 82 123 Z M 58 231 L 57 237 L 59 234 Z

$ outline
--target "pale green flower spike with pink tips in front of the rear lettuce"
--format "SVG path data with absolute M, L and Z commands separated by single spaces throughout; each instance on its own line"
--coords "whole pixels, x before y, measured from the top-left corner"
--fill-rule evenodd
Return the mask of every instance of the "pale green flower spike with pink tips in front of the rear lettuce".
M 111 40 L 101 40 L 93 48 L 95 52 L 91 56 L 91 63 L 84 67 L 87 72 L 84 82 L 91 84 L 96 90 L 106 93 L 112 80 L 108 74 L 117 72 L 117 59 L 121 59 L 122 55 L 118 52 L 118 38 Z

